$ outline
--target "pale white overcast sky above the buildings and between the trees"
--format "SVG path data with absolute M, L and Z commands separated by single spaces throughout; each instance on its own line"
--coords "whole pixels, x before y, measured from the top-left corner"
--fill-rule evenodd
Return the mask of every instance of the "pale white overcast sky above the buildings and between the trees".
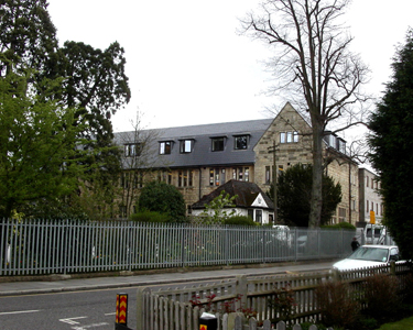
M 132 98 L 112 118 L 115 131 L 132 130 L 138 110 L 144 128 L 167 128 L 268 118 L 267 107 L 283 106 L 264 96 L 269 48 L 237 34 L 238 18 L 259 0 L 48 2 L 62 44 L 105 50 L 118 41 L 124 48 Z M 412 0 L 354 0 L 346 15 L 377 96 L 389 81 L 395 45 L 413 26 L 412 12 Z

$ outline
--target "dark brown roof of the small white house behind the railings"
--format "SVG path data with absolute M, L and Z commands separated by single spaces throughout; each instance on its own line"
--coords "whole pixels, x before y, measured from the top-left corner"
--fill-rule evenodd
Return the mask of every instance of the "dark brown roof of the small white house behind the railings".
M 259 186 L 257 186 L 257 184 L 238 182 L 235 179 L 227 182 L 226 184 L 215 189 L 213 193 L 205 195 L 197 202 L 193 204 L 192 208 L 204 209 L 205 205 L 209 204 L 214 198 L 218 197 L 222 190 L 228 193 L 230 196 L 237 195 L 237 198 L 233 200 L 237 208 L 252 208 L 252 202 L 257 199 L 258 195 L 261 194 L 269 209 L 274 210 L 274 204 L 267 196 L 267 194 L 262 191 Z

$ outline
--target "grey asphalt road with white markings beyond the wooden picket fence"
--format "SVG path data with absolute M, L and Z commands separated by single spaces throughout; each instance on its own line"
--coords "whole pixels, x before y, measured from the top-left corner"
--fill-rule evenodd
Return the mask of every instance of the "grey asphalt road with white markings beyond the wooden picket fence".
M 294 268 L 294 272 L 315 271 L 317 268 L 325 268 L 325 264 L 305 264 L 293 267 L 284 266 L 278 270 L 285 272 L 289 268 Z M 258 270 L 249 271 L 251 273 L 259 272 Z M 257 275 L 259 274 L 257 273 Z M 197 279 L 197 282 L 200 280 L 199 278 Z M 173 283 L 173 279 L 171 279 L 170 283 Z M 187 284 L 186 282 L 173 286 L 185 286 Z M 159 288 L 169 286 L 171 286 L 171 284 L 156 284 L 152 287 Z M 2 296 L 0 297 L 0 330 L 113 330 L 116 295 L 119 293 L 128 294 L 128 326 L 129 328 L 135 329 L 137 287 L 138 286 L 88 292 Z

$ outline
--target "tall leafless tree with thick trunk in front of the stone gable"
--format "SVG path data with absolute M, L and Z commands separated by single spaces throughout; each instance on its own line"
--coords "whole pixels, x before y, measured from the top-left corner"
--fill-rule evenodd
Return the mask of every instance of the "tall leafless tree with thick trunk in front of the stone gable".
M 287 91 L 313 129 L 313 187 L 309 227 L 318 227 L 322 212 L 323 136 L 327 125 L 340 121 L 343 131 L 363 123 L 360 87 L 368 68 L 349 51 L 352 40 L 339 24 L 349 0 L 268 0 L 260 13 L 242 20 L 243 33 L 274 46 L 271 68 L 274 92 Z M 344 122 L 343 119 L 346 119 Z

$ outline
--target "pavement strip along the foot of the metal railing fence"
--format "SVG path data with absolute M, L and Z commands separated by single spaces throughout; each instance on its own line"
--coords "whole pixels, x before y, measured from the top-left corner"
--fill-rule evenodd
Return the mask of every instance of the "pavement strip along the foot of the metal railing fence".
M 111 274 L 0 276 L 0 296 L 19 296 L 105 288 L 149 286 L 194 280 L 263 276 L 328 270 L 335 261 L 307 261 L 225 267 L 155 270 Z

